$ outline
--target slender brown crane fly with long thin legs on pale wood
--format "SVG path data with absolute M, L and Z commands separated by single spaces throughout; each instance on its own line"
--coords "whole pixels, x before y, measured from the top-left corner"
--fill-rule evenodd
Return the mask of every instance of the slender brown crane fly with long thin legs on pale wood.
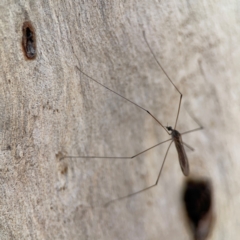
M 65 158 L 70 158 L 70 159 L 73 159 L 73 158 L 133 159 L 133 158 L 135 158 L 135 157 L 137 157 L 137 156 L 139 156 L 139 155 L 141 155 L 141 154 L 143 154 L 143 153 L 145 153 L 145 152 L 147 152 L 147 151 L 149 151 L 149 150 L 151 150 L 151 149 L 153 149 L 153 148 L 155 148 L 155 147 L 157 147 L 157 146 L 159 146 L 159 145 L 161 145 L 161 144 L 163 144 L 163 143 L 165 143 L 165 142 L 169 142 L 169 141 L 170 141 L 170 144 L 169 144 L 169 146 L 168 146 L 168 148 L 167 148 L 167 151 L 166 151 L 166 153 L 165 153 L 165 156 L 164 156 L 164 158 L 163 158 L 163 162 L 162 162 L 162 164 L 161 164 L 161 167 L 160 167 L 160 170 L 159 170 L 157 179 L 156 179 L 156 181 L 155 181 L 154 184 L 152 184 L 151 186 L 146 187 L 146 188 L 144 188 L 144 189 L 142 189 L 142 190 L 139 190 L 139 191 L 137 191 L 137 192 L 131 193 L 131 194 L 127 195 L 127 196 L 123 196 L 123 197 L 120 197 L 120 198 L 112 199 L 112 200 L 108 201 L 107 203 L 105 203 L 104 206 L 107 206 L 107 205 L 109 205 L 109 204 L 112 203 L 112 202 L 115 202 L 115 201 L 118 201 L 118 200 L 121 200 L 121 199 L 124 199 L 124 198 L 131 197 L 131 196 L 133 196 L 133 195 L 139 194 L 139 193 L 141 193 L 141 192 L 147 191 L 147 190 L 150 189 L 150 188 L 155 187 L 155 186 L 158 184 L 158 182 L 159 182 L 159 179 L 160 179 L 160 176 L 161 176 L 161 173 L 162 173 L 162 169 L 163 169 L 164 163 L 165 163 L 166 158 L 167 158 L 168 151 L 169 151 L 169 149 L 170 149 L 170 147 L 171 147 L 171 145 L 172 145 L 173 142 L 175 143 L 175 147 L 176 147 L 176 150 L 177 150 L 177 153 L 178 153 L 178 159 L 179 159 L 179 163 L 180 163 L 181 170 L 182 170 L 182 172 L 183 172 L 183 174 L 184 174 L 185 176 L 188 176 L 190 170 L 189 170 L 189 163 L 188 163 L 187 154 L 186 154 L 185 149 L 184 149 L 184 145 L 187 146 L 187 147 L 190 148 L 190 149 L 191 149 L 191 147 L 188 146 L 186 143 L 184 143 L 184 142 L 182 141 L 181 135 L 203 129 L 203 127 L 200 125 L 200 123 L 199 123 L 193 116 L 191 116 L 191 117 L 193 118 L 193 120 L 199 125 L 198 128 L 195 128 L 195 129 L 186 131 L 186 132 L 184 132 L 184 133 L 180 133 L 180 132 L 178 132 L 178 131 L 176 130 L 177 122 L 178 122 L 178 116 L 179 116 L 179 113 L 180 113 L 180 108 L 181 108 L 182 96 L 183 96 L 183 95 L 182 95 L 182 93 L 179 91 L 179 89 L 176 87 L 176 85 L 173 83 L 173 81 L 171 80 L 171 78 L 168 76 L 167 72 L 164 70 L 164 68 L 162 67 L 162 65 L 160 64 L 160 62 L 157 60 L 157 58 L 156 58 L 156 56 L 155 56 L 152 48 L 150 47 L 150 45 L 149 45 L 149 43 L 148 43 L 148 41 L 147 41 L 147 38 L 146 38 L 146 36 L 145 36 L 145 32 L 144 32 L 144 31 L 143 31 L 143 38 L 144 38 L 144 40 L 145 40 L 145 43 L 146 43 L 148 49 L 150 50 L 150 52 L 151 52 L 151 54 L 152 54 L 152 56 L 153 56 L 156 64 L 161 68 L 161 70 L 163 71 L 163 73 L 165 74 L 165 76 L 167 77 L 167 79 L 170 81 L 170 83 L 172 84 L 172 86 L 176 89 L 176 91 L 177 91 L 177 92 L 179 93 L 179 95 L 180 95 L 180 100 L 179 100 L 179 103 L 178 103 L 178 110 L 177 110 L 177 116 L 176 116 L 174 128 L 172 128 L 171 126 L 166 126 L 166 127 L 165 127 L 150 111 L 148 111 L 147 109 L 145 109 L 145 108 L 143 108 L 142 106 L 138 105 L 137 103 L 131 101 L 130 99 L 122 96 L 122 95 L 119 94 L 118 92 L 116 92 L 116 91 L 108 88 L 107 86 L 103 85 L 102 83 L 100 83 L 99 81 L 97 81 L 97 80 L 94 79 L 93 77 L 89 76 L 88 74 L 86 74 L 85 72 L 83 72 L 79 67 L 76 66 L 77 70 L 78 70 L 80 73 L 82 73 L 83 75 L 85 75 L 85 77 L 87 77 L 87 78 L 90 79 L 91 81 L 95 82 L 96 84 L 98 84 L 98 85 L 102 86 L 103 88 L 109 90 L 109 91 L 112 92 L 113 94 L 116 94 L 118 97 L 124 99 L 124 100 L 127 101 L 128 103 L 133 104 L 133 105 L 135 105 L 136 107 L 138 107 L 138 108 L 140 108 L 141 110 L 143 110 L 144 112 L 146 112 L 148 115 L 150 115 L 151 118 L 153 118 L 153 119 L 167 132 L 168 135 L 171 136 L 170 139 L 165 140 L 165 141 L 163 141 L 163 142 L 160 142 L 160 143 L 158 143 L 158 144 L 156 144 L 156 145 L 154 145 L 154 146 L 152 146 L 152 147 L 150 147 L 150 148 L 147 148 L 147 149 L 145 149 L 145 150 L 143 150 L 143 151 L 141 151 L 141 152 L 139 152 L 139 153 L 137 153 L 137 154 L 135 154 L 135 155 L 133 155 L 133 156 L 130 156 L 130 157 L 129 157 L 129 156 L 128 156 L 128 157 L 127 157 L 127 156 L 126 156 L 126 157 L 115 157 L 115 156 L 63 156 L 63 157 L 60 159 L 60 160 L 65 159 Z M 192 149 L 192 150 L 193 150 L 193 149 Z

